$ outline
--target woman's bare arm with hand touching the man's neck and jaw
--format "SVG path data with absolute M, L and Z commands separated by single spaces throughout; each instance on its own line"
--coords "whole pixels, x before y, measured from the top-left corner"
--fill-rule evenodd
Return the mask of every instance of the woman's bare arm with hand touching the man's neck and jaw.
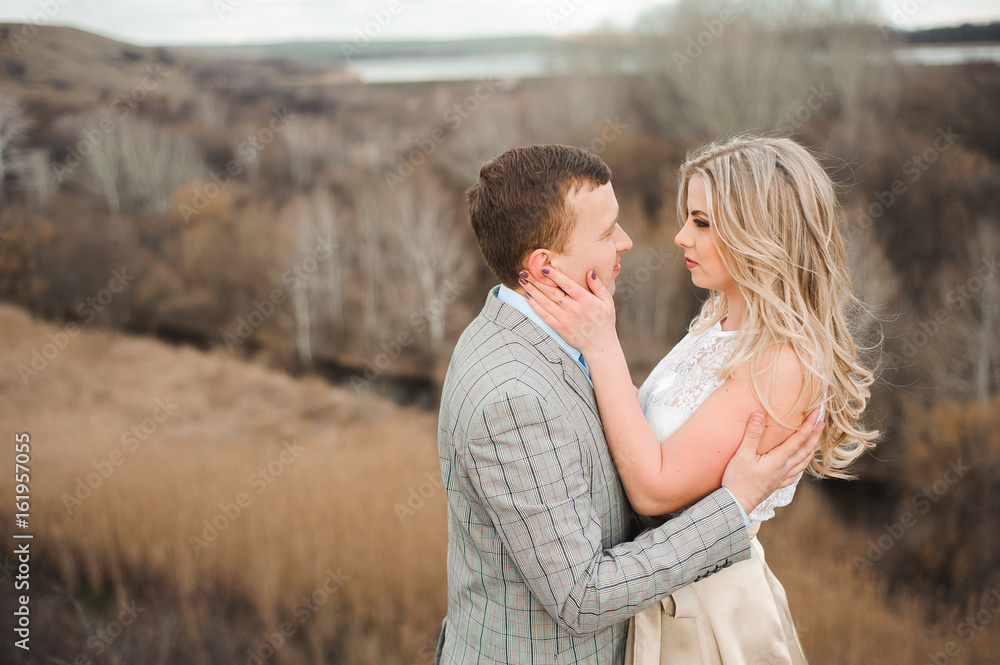
M 565 279 L 555 271 L 551 276 Z M 583 299 L 583 294 L 574 293 L 573 287 L 583 290 L 574 282 L 559 285 L 568 297 L 576 296 L 574 301 Z M 643 515 L 672 512 L 718 489 L 751 414 L 764 412 L 753 395 L 749 367 L 738 368 L 735 376 L 713 392 L 676 432 L 666 441 L 658 441 L 636 399 L 625 355 L 614 331 L 614 303 L 610 295 L 604 308 L 594 303 L 583 307 L 577 307 L 576 303 L 559 306 L 536 285 L 522 286 L 532 296 L 529 302 L 539 316 L 584 354 L 605 436 L 636 512 Z M 561 297 L 561 292 L 557 297 Z M 791 349 L 783 348 L 776 350 L 774 360 L 775 371 L 768 372 L 765 392 L 772 411 L 792 428 L 768 418 L 759 454 L 784 441 L 805 420 L 804 402 L 799 399 L 802 371 L 798 359 Z M 765 359 L 764 366 L 767 365 Z

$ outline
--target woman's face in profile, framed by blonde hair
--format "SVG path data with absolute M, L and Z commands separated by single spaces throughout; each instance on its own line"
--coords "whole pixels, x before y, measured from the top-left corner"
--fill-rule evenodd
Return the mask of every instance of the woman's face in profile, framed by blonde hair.
M 712 225 L 715 220 L 708 214 L 705 184 L 700 175 L 688 181 L 687 216 L 684 226 L 674 237 L 674 242 L 684 250 L 684 260 L 691 271 L 691 281 L 703 289 L 714 289 L 729 294 L 736 290 L 736 282 L 722 263 L 715 245 Z

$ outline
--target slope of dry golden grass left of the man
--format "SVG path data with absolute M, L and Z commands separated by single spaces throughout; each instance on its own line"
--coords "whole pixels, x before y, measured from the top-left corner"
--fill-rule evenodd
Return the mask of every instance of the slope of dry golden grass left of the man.
M 96 656 L 86 645 L 104 611 L 135 601 L 146 609 L 127 639 L 96 662 L 156 662 L 159 649 L 229 662 L 331 571 L 336 594 L 303 623 L 303 643 L 382 661 L 434 637 L 447 535 L 428 484 L 440 477 L 432 415 L 228 354 L 106 330 L 63 338 L 7 304 L 0 330 L 4 436 L 31 436 L 30 655 Z M 18 368 L 35 350 L 53 357 L 25 387 Z M 0 460 L 5 477 L 12 465 Z M 6 542 L 12 492 L 3 483 Z M 365 638 L 402 616 L 398 642 Z

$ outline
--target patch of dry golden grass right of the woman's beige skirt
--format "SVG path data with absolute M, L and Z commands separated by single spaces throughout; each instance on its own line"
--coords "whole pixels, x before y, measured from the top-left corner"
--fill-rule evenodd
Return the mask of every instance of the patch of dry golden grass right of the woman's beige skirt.
M 809 483 L 762 526 L 768 565 L 788 593 L 809 662 L 924 665 L 933 662 L 929 652 L 944 653 L 952 642 L 958 654 L 938 665 L 996 663 L 1000 616 L 992 630 L 966 642 L 956 632 L 964 612 L 932 607 L 927 597 L 906 591 L 890 597 L 877 565 L 858 573 L 854 557 L 864 558 L 868 539 L 882 533 L 845 526 Z

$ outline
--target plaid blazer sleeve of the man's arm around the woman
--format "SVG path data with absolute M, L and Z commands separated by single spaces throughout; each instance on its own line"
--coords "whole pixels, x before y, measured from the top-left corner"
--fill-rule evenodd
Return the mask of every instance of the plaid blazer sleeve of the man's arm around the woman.
M 470 482 L 529 589 L 569 633 L 625 621 L 749 558 L 742 512 L 724 489 L 634 541 L 605 549 L 589 444 L 566 417 L 530 394 L 500 396 L 479 415 L 465 460 Z

